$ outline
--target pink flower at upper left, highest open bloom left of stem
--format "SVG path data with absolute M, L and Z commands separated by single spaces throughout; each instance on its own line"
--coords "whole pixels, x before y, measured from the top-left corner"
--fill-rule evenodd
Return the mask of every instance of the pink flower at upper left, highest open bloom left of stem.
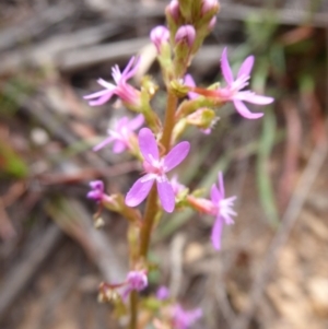
M 136 74 L 139 63 L 140 58 L 132 57 L 122 72 L 120 72 L 118 66 L 115 66 L 114 68 L 112 68 L 112 77 L 116 85 L 103 79 L 98 79 L 97 83 L 104 86 L 105 89 L 99 92 L 86 95 L 83 98 L 97 98 L 96 101 L 89 102 L 91 106 L 97 106 L 108 102 L 113 95 L 117 95 L 121 98 L 121 101 L 126 102 L 127 104 L 137 106 L 139 104 L 140 98 L 139 91 L 137 91 L 133 86 L 128 84 L 127 81 Z

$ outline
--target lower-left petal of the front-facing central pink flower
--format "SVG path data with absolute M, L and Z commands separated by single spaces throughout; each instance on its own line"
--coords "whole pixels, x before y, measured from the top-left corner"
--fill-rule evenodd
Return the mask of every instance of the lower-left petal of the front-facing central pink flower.
M 129 207 L 136 207 L 140 204 L 149 195 L 154 183 L 153 175 L 144 175 L 139 178 L 130 188 L 126 196 L 126 204 Z

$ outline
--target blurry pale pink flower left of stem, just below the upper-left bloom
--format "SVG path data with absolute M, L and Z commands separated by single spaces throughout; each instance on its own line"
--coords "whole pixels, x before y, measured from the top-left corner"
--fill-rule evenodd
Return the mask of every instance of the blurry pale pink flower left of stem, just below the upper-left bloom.
M 94 151 L 98 151 L 113 142 L 113 152 L 122 153 L 127 149 L 131 149 L 131 138 L 134 136 L 134 130 L 140 128 L 144 122 L 143 115 L 138 115 L 133 119 L 128 117 L 120 118 L 115 128 L 108 129 L 109 134 L 104 141 L 93 148 Z

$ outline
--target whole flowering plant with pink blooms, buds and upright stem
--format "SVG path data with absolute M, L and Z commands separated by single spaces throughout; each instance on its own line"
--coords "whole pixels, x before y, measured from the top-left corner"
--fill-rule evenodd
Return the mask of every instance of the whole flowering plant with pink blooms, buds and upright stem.
M 156 26 L 150 33 L 167 93 L 164 120 L 151 104 L 159 89 L 155 82 L 145 77 L 140 87 L 129 83 L 138 71 L 138 57 L 132 57 L 122 71 L 117 66 L 113 68 L 115 83 L 99 79 L 97 82 L 104 89 L 84 96 L 91 106 L 104 105 L 112 97 L 118 97 L 136 114 L 131 118 L 120 118 L 108 130 L 108 138 L 95 145 L 94 151 L 110 144 L 116 154 L 130 152 L 143 166 L 141 177 L 125 193 L 106 195 L 99 180 L 90 184 L 87 193 L 87 198 L 99 207 L 95 219 L 103 208 L 107 208 L 129 222 L 129 272 L 119 283 L 103 282 L 99 299 L 110 302 L 118 317 L 128 315 L 130 329 L 187 329 L 202 316 L 200 308 L 186 309 L 177 303 L 165 286 L 156 294 L 148 293 L 141 302 L 148 287 L 148 275 L 154 268 L 148 258 L 151 236 L 163 212 L 191 208 L 214 218 L 209 240 L 216 250 L 221 248 L 224 225 L 233 224 L 233 218 L 237 215 L 233 209 L 236 197 L 225 197 L 222 173 L 218 173 L 218 183 L 213 181 L 208 198 L 190 191 L 179 183 L 178 176 L 169 175 L 173 168 L 187 162 L 189 151 L 192 152 L 192 145 L 184 140 L 185 130 L 195 126 L 210 134 L 218 121 L 218 109 L 229 102 L 246 119 L 258 119 L 263 114 L 251 113 L 244 102 L 258 105 L 273 102 L 272 97 L 245 90 L 255 60 L 253 56 L 245 59 L 234 78 L 225 48 L 221 55 L 223 85 L 199 87 L 188 73 L 194 56 L 214 27 L 219 9 L 216 0 L 172 0 L 165 10 L 167 26 Z M 141 212 L 138 207 L 144 201 Z

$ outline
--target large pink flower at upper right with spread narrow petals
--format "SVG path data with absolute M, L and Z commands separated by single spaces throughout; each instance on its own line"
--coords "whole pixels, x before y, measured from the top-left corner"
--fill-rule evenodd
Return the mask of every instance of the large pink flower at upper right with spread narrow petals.
M 215 91 L 216 95 L 223 101 L 232 101 L 239 115 L 245 117 L 246 119 L 257 119 L 260 118 L 263 114 L 249 111 L 249 109 L 243 102 L 267 105 L 271 104 L 274 101 L 272 97 L 259 96 L 251 91 L 242 91 L 243 89 L 245 89 L 245 86 L 248 85 L 253 64 L 254 56 L 248 56 L 242 63 L 237 78 L 235 80 L 227 60 L 226 48 L 224 48 L 221 57 L 221 69 L 223 78 L 227 85 L 226 87 L 218 89 Z

